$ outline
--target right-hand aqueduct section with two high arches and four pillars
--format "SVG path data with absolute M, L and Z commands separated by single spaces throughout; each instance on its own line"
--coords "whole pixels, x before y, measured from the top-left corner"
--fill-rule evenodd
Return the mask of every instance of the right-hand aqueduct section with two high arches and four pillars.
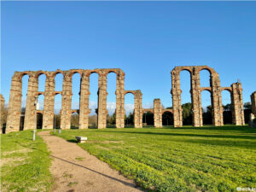
M 206 69 L 210 73 L 210 87 L 201 87 L 200 72 Z M 242 90 L 241 84 L 232 84 L 231 87 L 222 88 L 218 73 L 214 69 L 207 66 L 183 66 L 175 67 L 172 70 L 172 107 L 174 126 L 180 127 L 183 125 L 182 106 L 181 106 L 181 93 L 180 90 L 180 77 L 179 73 L 183 70 L 189 71 L 191 80 L 191 102 L 193 125 L 202 126 L 202 108 L 201 108 L 201 91 L 208 90 L 211 93 L 212 101 L 212 124 L 215 126 L 224 125 L 223 119 L 223 106 L 221 91 L 230 90 L 231 100 L 233 101 L 232 109 L 233 123 L 235 125 L 244 125 L 243 107 L 242 107 Z

